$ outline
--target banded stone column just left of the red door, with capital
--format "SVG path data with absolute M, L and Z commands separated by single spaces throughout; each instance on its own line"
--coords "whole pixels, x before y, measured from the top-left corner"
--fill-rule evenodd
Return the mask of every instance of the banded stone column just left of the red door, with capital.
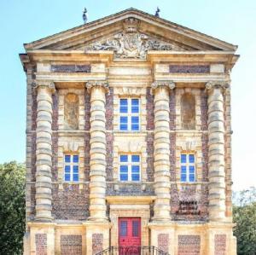
M 90 92 L 90 220 L 106 217 L 106 117 L 108 84 L 89 82 Z

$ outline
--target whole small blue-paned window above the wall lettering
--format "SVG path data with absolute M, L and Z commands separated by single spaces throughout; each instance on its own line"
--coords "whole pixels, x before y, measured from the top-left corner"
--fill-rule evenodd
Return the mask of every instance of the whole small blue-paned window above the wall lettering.
M 181 154 L 180 180 L 182 183 L 195 183 L 195 154 Z

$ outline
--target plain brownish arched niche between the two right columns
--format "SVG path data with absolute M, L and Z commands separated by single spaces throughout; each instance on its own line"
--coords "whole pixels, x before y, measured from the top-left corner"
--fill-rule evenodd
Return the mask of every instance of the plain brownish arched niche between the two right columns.
M 189 93 L 181 98 L 181 123 L 183 130 L 195 130 L 195 97 Z

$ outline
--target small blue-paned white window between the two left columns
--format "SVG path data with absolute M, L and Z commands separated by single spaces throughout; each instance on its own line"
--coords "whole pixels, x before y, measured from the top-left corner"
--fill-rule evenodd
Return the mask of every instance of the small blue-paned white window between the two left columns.
M 64 156 L 64 181 L 79 182 L 79 155 Z

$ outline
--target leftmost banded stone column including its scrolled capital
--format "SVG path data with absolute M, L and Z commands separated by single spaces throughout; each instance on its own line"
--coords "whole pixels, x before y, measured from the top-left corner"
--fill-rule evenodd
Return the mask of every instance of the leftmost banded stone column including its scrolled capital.
M 52 93 L 55 84 L 38 81 L 33 84 L 38 90 L 37 102 L 37 173 L 36 173 L 36 217 L 38 221 L 51 221 L 52 203 Z

